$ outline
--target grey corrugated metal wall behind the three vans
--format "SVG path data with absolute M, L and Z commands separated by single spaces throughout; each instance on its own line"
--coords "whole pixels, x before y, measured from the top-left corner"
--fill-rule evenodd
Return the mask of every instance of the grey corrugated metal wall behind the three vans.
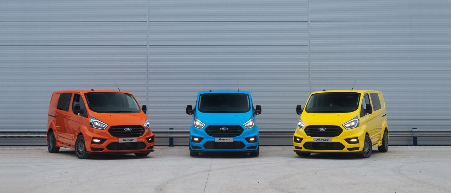
M 2 0 L 0 129 L 45 129 L 52 91 L 115 81 L 147 104 L 153 129 L 188 129 L 197 92 L 239 83 L 262 105 L 261 129 L 294 130 L 310 92 L 354 80 L 385 94 L 390 129 L 450 129 L 450 10 L 449 0 Z

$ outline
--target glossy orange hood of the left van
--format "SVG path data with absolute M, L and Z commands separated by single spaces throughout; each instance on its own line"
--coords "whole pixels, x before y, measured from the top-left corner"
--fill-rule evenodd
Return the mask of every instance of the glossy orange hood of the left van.
M 142 112 L 139 113 L 91 113 L 91 116 L 108 124 L 115 125 L 143 125 L 147 117 Z

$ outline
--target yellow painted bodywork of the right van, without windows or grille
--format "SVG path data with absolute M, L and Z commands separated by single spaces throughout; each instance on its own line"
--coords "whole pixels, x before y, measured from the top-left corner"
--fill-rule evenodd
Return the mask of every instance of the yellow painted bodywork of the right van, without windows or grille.
M 310 94 L 310 97 L 313 94 L 316 93 L 324 93 L 324 92 L 357 92 L 360 93 L 359 98 L 359 108 L 355 110 L 354 112 L 350 113 L 308 113 L 305 111 L 305 106 L 302 111 L 302 114 L 300 115 L 300 119 L 305 124 L 303 129 L 296 128 L 295 134 L 293 135 L 293 145 L 295 152 L 305 152 L 305 153 L 327 153 L 327 152 L 361 152 L 364 148 L 364 138 L 365 135 L 368 134 L 368 136 L 371 138 L 373 147 L 378 147 L 382 145 L 382 136 L 385 130 L 388 132 L 388 126 L 387 126 L 387 116 L 386 110 L 385 110 L 385 103 L 382 96 L 382 92 L 379 91 L 371 91 L 371 90 L 331 90 L 331 91 L 318 91 L 313 92 Z M 365 93 L 377 93 L 379 100 L 381 102 L 381 109 L 377 111 L 373 111 L 372 114 L 364 115 L 363 117 L 360 117 L 360 111 L 362 108 L 362 98 Z M 308 99 L 310 99 L 308 97 Z M 370 97 L 371 101 L 371 97 Z M 305 103 L 307 105 L 308 101 Z M 371 101 L 371 104 L 373 105 L 373 101 Z M 350 121 L 354 117 L 359 118 L 359 126 L 353 129 L 345 129 L 343 127 L 343 124 Z M 376 123 L 374 127 L 368 126 L 368 123 L 373 121 L 372 123 Z M 336 125 L 340 126 L 341 129 L 343 129 L 343 132 L 337 136 L 332 138 L 332 142 L 340 142 L 345 146 L 343 150 L 308 150 L 305 148 L 302 149 L 296 149 L 297 147 L 304 147 L 305 142 L 313 142 L 313 138 L 320 138 L 320 137 L 310 137 L 305 132 L 304 129 L 309 125 Z M 296 142 L 295 137 L 302 138 L 301 142 Z M 357 144 L 349 144 L 345 141 L 347 138 L 359 138 L 359 143 Z M 358 150 L 354 151 L 348 151 L 347 148 L 350 147 L 359 147 Z

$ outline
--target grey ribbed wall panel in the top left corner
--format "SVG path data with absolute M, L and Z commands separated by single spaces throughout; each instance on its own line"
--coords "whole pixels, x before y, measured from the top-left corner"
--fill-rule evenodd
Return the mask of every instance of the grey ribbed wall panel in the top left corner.
M 0 21 L 147 21 L 147 0 L 1 0 Z

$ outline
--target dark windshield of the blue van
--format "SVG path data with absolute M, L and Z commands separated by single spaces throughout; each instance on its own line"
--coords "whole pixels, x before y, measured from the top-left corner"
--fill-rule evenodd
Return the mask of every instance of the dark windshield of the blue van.
M 244 113 L 250 110 L 249 96 L 243 93 L 206 93 L 199 97 L 203 113 Z

